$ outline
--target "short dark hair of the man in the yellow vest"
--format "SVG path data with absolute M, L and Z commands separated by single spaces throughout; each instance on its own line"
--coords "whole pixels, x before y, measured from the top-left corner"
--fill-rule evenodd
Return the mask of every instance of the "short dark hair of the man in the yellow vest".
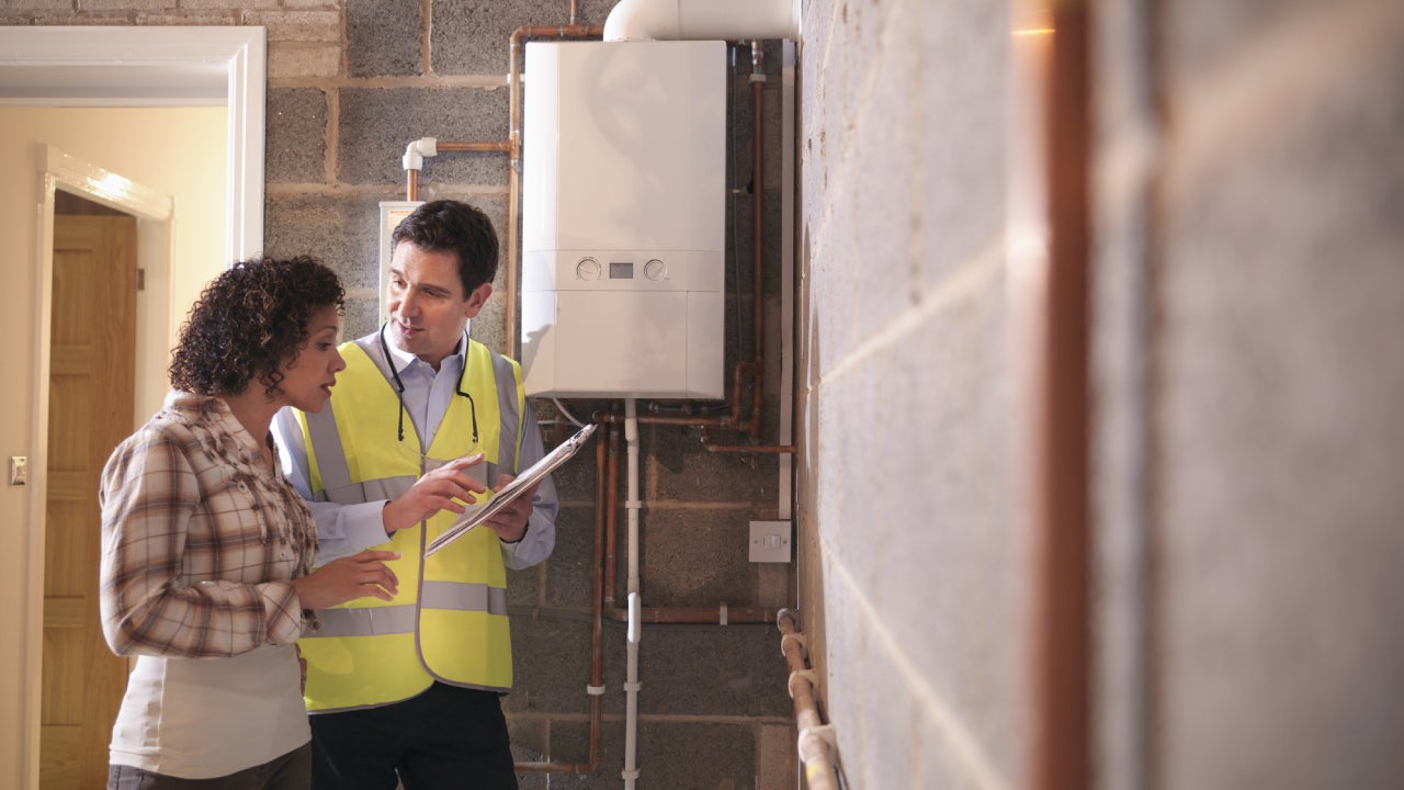
M 497 232 L 482 209 L 456 200 L 425 202 L 390 235 L 390 249 L 410 242 L 425 252 L 458 253 L 463 298 L 497 277 Z

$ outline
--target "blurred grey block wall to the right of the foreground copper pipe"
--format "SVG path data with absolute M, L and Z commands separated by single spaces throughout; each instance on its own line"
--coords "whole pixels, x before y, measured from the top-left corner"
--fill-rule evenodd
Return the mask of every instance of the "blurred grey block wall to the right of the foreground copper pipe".
M 1404 7 L 1097 7 L 1101 786 L 1397 786 Z

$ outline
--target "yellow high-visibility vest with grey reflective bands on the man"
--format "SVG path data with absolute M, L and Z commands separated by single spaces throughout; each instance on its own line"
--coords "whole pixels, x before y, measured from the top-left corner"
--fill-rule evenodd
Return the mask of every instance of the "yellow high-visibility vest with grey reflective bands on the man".
M 438 464 L 425 461 L 411 420 L 397 440 L 400 401 L 382 373 L 379 343 L 345 343 L 347 368 L 322 412 L 299 412 L 313 498 L 343 505 L 393 499 Z M 428 458 L 482 451 L 470 471 L 496 481 L 517 472 L 525 391 L 517 363 L 469 342 L 465 391 L 455 395 Z M 476 409 L 479 443 L 473 446 Z M 486 468 L 484 468 L 486 467 Z M 476 529 L 434 557 L 424 547 L 453 523 L 441 512 L 373 548 L 400 552 L 395 600 L 361 597 L 322 610 L 323 627 L 299 644 L 307 659 L 307 710 L 341 711 L 413 697 L 434 680 L 507 692 L 512 685 L 507 578 L 493 530 Z

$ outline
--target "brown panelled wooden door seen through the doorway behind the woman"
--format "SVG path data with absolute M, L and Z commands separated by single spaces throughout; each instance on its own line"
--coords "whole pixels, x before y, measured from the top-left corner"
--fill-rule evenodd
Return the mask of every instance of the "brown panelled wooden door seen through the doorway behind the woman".
M 39 787 L 107 786 L 126 661 L 98 619 L 98 477 L 132 433 L 136 219 L 53 218 Z

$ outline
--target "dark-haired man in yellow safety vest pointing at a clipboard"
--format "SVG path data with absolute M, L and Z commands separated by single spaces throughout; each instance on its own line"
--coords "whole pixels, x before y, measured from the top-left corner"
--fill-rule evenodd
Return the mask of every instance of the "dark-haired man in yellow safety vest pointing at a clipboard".
M 468 337 L 493 292 L 497 235 L 458 201 L 418 207 L 392 236 L 389 320 L 341 346 L 329 409 L 285 410 L 284 471 L 310 502 L 322 558 L 371 545 L 393 602 L 322 611 L 302 638 L 313 787 L 517 787 L 500 696 L 511 687 L 504 568 L 556 541 L 550 478 L 434 557 L 430 540 L 487 481 L 543 455 L 521 370 Z

